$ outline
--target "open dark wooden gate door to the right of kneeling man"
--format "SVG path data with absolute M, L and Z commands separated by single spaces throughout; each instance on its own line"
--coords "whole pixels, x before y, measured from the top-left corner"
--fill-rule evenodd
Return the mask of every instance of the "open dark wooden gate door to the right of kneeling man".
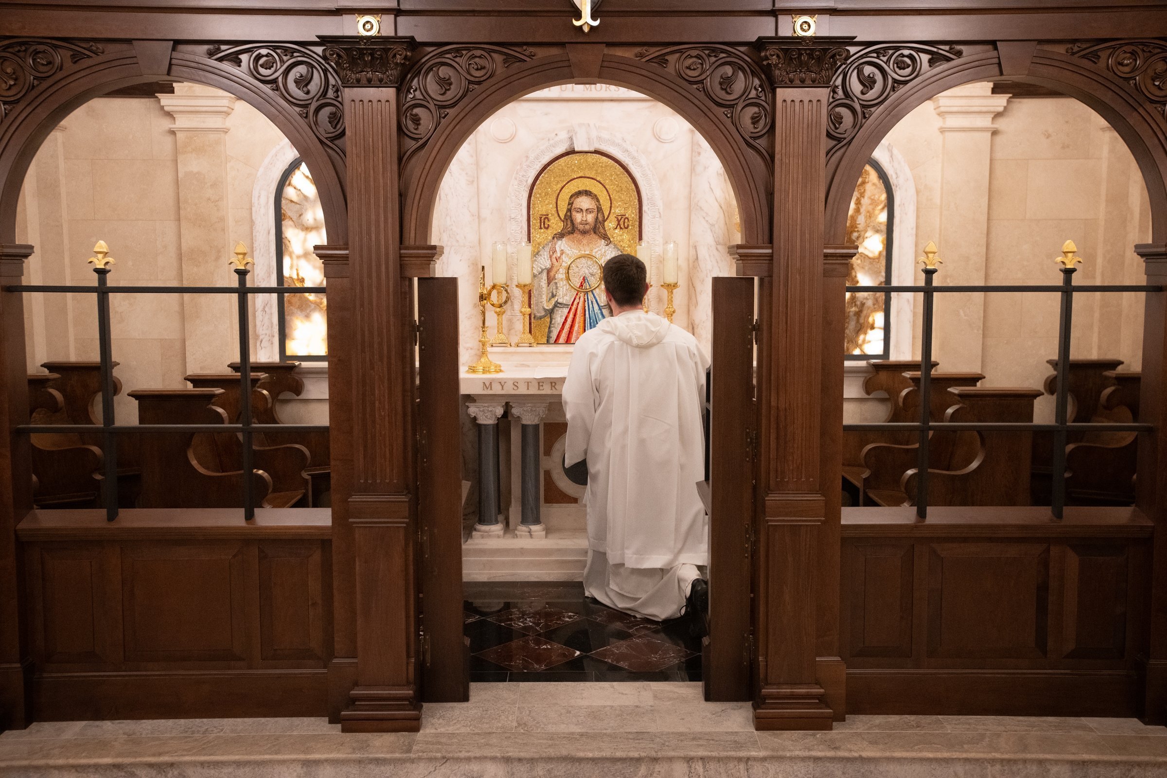
M 750 700 L 750 577 L 757 411 L 754 279 L 713 279 L 710 371 L 710 636 L 705 699 Z

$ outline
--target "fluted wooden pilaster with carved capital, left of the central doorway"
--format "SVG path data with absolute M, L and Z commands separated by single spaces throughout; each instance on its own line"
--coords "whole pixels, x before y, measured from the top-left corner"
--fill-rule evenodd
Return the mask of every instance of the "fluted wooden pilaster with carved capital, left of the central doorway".
M 417 731 L 413 293 L 401 276 L 397 85 L 408 38 L 324 38 L 344 85 L 356 686 L 344 731 Z

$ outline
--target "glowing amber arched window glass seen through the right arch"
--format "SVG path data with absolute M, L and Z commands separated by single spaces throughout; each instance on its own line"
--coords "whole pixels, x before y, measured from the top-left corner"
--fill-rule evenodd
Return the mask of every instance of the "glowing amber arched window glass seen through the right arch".
M 875 168 L 864 166 L 847 213 L 847 241 L 859 246 L 847 286 L 883 286 L 889 226 L 883 180 Z M 848 294 L 844 353 L 883 353 L 885 315 L 882 294 Z

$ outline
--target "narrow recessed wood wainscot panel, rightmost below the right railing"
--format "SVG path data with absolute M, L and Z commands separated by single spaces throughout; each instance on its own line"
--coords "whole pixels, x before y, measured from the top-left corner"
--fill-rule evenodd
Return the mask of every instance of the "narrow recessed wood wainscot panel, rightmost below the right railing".
M 1062 657 L 1121 659 L 1126 653 L 1128 546 L 1065 546 Z

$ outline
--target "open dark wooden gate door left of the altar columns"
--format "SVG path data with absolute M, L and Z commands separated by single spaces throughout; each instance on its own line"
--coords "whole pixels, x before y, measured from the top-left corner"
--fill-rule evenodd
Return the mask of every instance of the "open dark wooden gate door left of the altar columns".
M 418 279 L 418 590 L 421 700 L 466 702 L 457 279 Z

